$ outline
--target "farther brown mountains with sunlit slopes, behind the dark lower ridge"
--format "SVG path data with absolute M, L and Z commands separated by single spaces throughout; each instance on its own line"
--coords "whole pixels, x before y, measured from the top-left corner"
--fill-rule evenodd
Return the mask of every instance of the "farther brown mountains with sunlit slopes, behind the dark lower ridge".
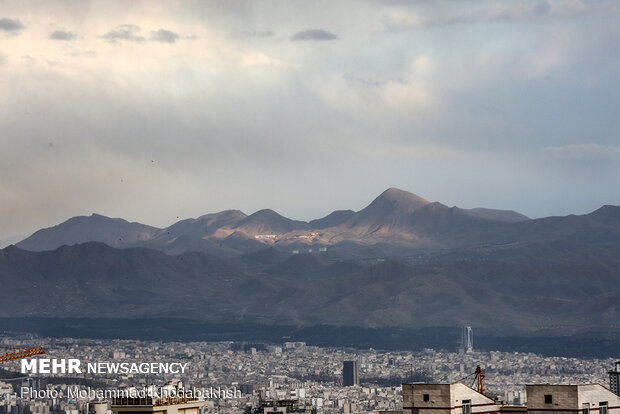
M 390 188 L 366 208 L 338 210 L 310 222 L 265 209 L 239 210 L 181 220 L 165 229 L 104 216 L 75 217 L 18 243 L 32 251 L 100 241 L 114 247 L 149 247 L 170 254 L 209 252 L 233 257 L 267 246 L 291 252 L 328 247 L 336 258 L 402 256 L 414 249 L 461 249 L 538 243 L 566 238 L 614 241 L 620 235 L 620 207 L 604 206 L 582 216 L 530 220 L 514 211 L 461 209 Z

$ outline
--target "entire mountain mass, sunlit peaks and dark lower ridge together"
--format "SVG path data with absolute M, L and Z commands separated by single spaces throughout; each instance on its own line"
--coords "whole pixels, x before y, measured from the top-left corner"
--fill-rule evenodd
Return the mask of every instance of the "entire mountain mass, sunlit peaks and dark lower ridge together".
M 0 251 L 10 317 L 440 327 L 620 341 L 620 207 L 529 219 L 388 189 L 309 222 L 74 217 Z

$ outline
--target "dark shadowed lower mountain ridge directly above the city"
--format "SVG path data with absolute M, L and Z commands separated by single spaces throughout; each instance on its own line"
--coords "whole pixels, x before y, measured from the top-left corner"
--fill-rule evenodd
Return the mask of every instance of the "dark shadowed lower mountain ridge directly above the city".
M 596 324 L 620 334 L 620 242 L 542 243 L 526 251 L 357 265 L 275 250 L 247 257 L 167 255 L 100 242 L 44 252 L 10 246 L 0 250 L 0 312 L 59 318 L 191 314 L 218 323 L 367 328 L 472 323 L 522 333 L 547 326 L 579 332 Z

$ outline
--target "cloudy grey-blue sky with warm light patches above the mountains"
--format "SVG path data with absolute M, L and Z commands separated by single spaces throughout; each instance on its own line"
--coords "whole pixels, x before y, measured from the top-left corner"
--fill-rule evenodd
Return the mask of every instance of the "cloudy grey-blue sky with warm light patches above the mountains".
M 0 0 L 0 240 L 395 186 L 620 204 L 616 0 Z

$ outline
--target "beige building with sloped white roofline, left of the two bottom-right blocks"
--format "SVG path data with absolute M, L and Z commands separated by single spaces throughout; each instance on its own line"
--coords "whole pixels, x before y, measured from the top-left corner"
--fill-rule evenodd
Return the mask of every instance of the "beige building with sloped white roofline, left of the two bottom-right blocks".
M 403 414 L 490 414 L 500 405 L 467 385 L 403 384 Z

